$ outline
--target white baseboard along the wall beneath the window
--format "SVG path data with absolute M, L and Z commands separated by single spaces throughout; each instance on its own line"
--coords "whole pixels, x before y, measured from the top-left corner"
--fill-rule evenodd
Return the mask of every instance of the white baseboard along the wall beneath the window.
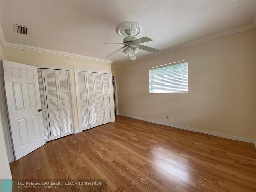
M 142 121 L 148 121 L 148 122 L 151 122 L 151 123 L 166 125 L 166 126 L 169 126 L 169 127 L 175 127 L 175 128 L 178 128 L 178 129 L 184 129 L 184 130 L 188 130 L 188 131 L 193 131 L 193 132 L 198 132 L 198 133 L 204 133 L 204 134 L 207 134 L 207 135 L 222 137 L 222 138 L 226 138 L 226 139 L 243 141 L 243 142 L 247 142 L 247 143 L 254 143 L 255 148 L 256 148 L 256 141 L 253 140 L 253 139 L 246 139 L 246 138 L 236 137 L 236 136 L 232 136 L 232 135 L 225 135 L 225 134 L 221 134 L 221 133 L 204 131 L 204 130 L 201 130 L 201 129 L 194 129 L 194 128 L 190 128 L 190 127 L 184 127 L 184 126 L 180 126 L 180 125 L 164 123 L 164 122 L 160 122 L 160 121 L 154 121 L 154 120 L 151 120 L 151 119 L 144 119 L 144 118 L 141 118 L 141 117 L 130 116 L 130 115 L 125 115 L 125 114 L 119 114 L 119 115 L 126 116 L 126 117 L 131 117 L 131 118 L 134 118 L 134 119 L 139 119 L 139 120 L 142 120 Z

